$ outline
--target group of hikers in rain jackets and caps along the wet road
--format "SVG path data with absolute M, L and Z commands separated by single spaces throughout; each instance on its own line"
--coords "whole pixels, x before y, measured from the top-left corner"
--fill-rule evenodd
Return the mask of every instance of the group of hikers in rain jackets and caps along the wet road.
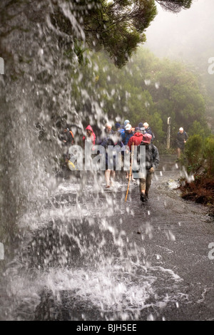
M 178 148 L 178 159 L 180 159 L 180 153 L 184 149 L 186 140 L 188 139 L 187 133 L 183 128 L 179 129 L 177 134 L 177 148 Z M 106 189 L 113 187 L 114 180 L 116 177 L 116 161 L 117 155 L 121 155 L 122 170 L 124 168 L 124 153 L 130 153 L 133 146 L 140 148 L 141 145 L 145 146 L 146 152 L 146 175 L 139 176 L 139 185 L 141 191 L 141 201 L 145 202 L 148 200 L 148 191 L 151 187 L 151 181 L 153 174 L 158 167 L 160 158 L 158 153 L 158 148 L 153 145 L 155 140 L 155 135 L 153 134 L 148 123 L 138 123 L 138 125 L 133 128 L 129 120 L 125 120 L 123 125 L 116 122 L 115 130 L 112 129 L 111 123 L 106 123 L 105 127 L 101 130 L 101 135 L 96 137 L 91 125 L 86 127 L 86 133 L 83 135 L 83 143 L 91 143 L 91 148 L 93 150 L 94 145 L 101 145 L 105 149 L 105 160 L 106 160 L 106 170 L 105 170 L 105 180 Z M 64 129 L 63 142 L 69 146 L 74 143 L 74 136 L 68 125 Z M 109 159 L 110 151 L 113 150 L 113 155 L 111 155 L 112 160 Z M 137 151 L 139 155 L 139 150 Z M 65 154 L 65 161 L 68 163 L 69 156 L 68 151 Z M 139 161 L 139 160 L 138 160 Z M 130 158 L 131 165 L 131 158 Z M 124 170 L 125 172 L 125 170 Z M 126 178 L 135 181 L 136 171 L 126 170 Z

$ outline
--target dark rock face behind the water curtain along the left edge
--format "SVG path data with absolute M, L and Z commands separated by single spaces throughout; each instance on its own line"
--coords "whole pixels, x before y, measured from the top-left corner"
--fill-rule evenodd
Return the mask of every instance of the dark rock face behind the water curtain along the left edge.
M 7 231 L 11 236 L 11 227 L 38 193 L 49 189 L 51 182 L 46 181 L 58 168 L 62 153 L 58 135 L 63 123 L 72 122 L 81 129 L 72 100 L 72 73 L 78 75 L 78 59 L 73 36 L 51 23 L 56 2 L 0 4 L 2 239 Z M 68 15 L 66 1 L 59 6 Z M 70 15 L 71 24 L 72 19 Z M 75 24 L 75 29 L 80 33 L 80 26 Z M 70 58 L 65 56 L 68 50 Z

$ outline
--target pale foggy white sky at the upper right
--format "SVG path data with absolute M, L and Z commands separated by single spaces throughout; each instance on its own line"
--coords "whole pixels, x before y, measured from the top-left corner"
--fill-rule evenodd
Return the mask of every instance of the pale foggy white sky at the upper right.
M 214 56 L 214 0 L 193 0 L 190 9 L 178 14 L 157 8 L 144 46 L 158 57 L 197 63 L 206 70 Z

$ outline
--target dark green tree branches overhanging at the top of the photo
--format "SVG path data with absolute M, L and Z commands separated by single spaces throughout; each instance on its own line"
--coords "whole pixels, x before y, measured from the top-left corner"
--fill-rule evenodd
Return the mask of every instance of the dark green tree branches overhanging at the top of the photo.
M 157 2 L 174 12 L 191 4 L 191 0 Z M 58 2 L 53 6 L 51 22 L 57 29 L 85 40 L 93 50 L 104 48 L 118 68 L 146 41 L 144 32 L 157 14 L 155 0 L 70 0 L 67 11 Z

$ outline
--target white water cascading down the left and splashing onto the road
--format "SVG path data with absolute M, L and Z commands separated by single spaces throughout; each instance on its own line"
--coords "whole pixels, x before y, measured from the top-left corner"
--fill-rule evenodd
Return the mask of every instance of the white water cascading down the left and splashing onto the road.
M 5 18 L 0 200 L 8 255 L 0 317 L 153 319 L 153 309 L 177 303 L 182 293 L 173 289 L 182 279 L 148 261 L 143 239 L 153 235 L 151 209 L 143 217 L 142 244 L 137 244 L 123 229 L 124 216 L 134 219 L 130 202 L 124 202 L 125 182 L 111 193 L 103 192 L 103 175 L 56 178 L 61 121 L 78 127 L 78 140 L 87 115 L 98 126 L 106 120 L 102 106 L 85 89 L 79 91 L 85 107 L 76 113 L 74 91 L 84 78 L 74 38 L 51 20 L 54 9 L 69 20 L 72 36 L 84 39 L 83 30 L 67 1 L 7 4 L 0 5 Z M 98 66 L 90 54 L 87 59 L 90 71 Z M 86 108 L 89 102 L 91 110 Z

